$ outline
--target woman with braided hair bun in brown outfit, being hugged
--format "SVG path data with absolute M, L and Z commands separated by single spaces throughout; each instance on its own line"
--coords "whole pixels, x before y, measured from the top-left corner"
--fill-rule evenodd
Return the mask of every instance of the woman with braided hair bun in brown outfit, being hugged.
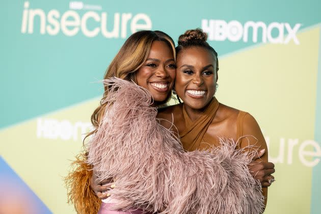
M 158 111 L 164 118 L 163 125 L 170 127 L 172 121 L 187 151 L 207 150 L 219 146 L 220 138 L 233 139 L 237 148 L 255 145 L 264 149 L 257 163 L 249 166 L 252 175 L 259 179 L 265 204 L 268 186 L 274 181 L 274 164 L 268 163 L 268 148 L 259 125 L 249 113 L 219 103 L 217 90 L 218 53 L 207 42 L 207 34 L 201 29 L 186 31 L 179 36 L 176 47 L 175 91 L 183 103 Z M 258 170 L 260 169 L 260 170 Z M 259 172 L 258 172 L 259 171 Z M 258 172 L 258 173 L 257 173 Z

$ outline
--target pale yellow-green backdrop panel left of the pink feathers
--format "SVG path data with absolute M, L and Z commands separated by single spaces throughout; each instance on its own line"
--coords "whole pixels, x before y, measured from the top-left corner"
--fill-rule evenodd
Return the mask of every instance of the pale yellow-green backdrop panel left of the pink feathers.
M 53 213 L 74 213 L 63 177 L 82 149 L 82 135 L 98 99 L 43 115 L 0 131 L 6 162 Z

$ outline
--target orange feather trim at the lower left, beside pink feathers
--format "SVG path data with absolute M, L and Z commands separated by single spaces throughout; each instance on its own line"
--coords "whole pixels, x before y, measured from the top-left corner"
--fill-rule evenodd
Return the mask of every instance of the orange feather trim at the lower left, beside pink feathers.
M 68 203 L 73 204 L 77 213 L 96 214 L 101 201 L 90 188 L 92 166 L 85 162 L 86 154 L 76 156 L 72 171 L 65 177 Z

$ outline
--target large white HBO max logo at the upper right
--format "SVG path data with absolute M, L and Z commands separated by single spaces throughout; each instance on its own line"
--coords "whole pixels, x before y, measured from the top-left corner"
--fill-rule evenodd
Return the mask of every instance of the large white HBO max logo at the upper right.
M 297 32 L 301 24 L 297 23 L 293 28 L 289 23 L 272 22 L 266 25 L 262 21 L 254 22 L 247 21 L 242 25 L 239 21 L 232 20 L 226 22 L 225 20 L 207 20 L 202 19 L 202 29 L 208 33 L 208 39 L 211 41 L 224 41 L 226 39 L 237 42 L 243 39 L 248 42 L 249 31 L 252 30 L 252 41 L 258 41 L 258 31 L 262 32 L 262 42 L 287 44 L 293 40 L 295 44 L 300 44 L 297 38 Z M 274 34 L 272 35 L 272 31 Z M 285 37 L 286 35 L 286 37 Z

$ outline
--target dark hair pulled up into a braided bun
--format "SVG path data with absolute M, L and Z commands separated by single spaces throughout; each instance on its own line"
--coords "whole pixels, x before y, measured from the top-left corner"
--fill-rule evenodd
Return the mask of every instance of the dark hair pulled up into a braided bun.
M 176 55 L 182 49 L 189 48 L 189 47 L 203 47 L 209 50 L 216 58 L 216 71 L 219 70 L 219 60 L 218 60 L 218 53 L 212 48 L 207 42 L 207 34 L 203 32 L 202 29 L 193 29 L 188 30 L 184 34 L 180 35 L 178 38 L 178 45 L 176 47 Z

